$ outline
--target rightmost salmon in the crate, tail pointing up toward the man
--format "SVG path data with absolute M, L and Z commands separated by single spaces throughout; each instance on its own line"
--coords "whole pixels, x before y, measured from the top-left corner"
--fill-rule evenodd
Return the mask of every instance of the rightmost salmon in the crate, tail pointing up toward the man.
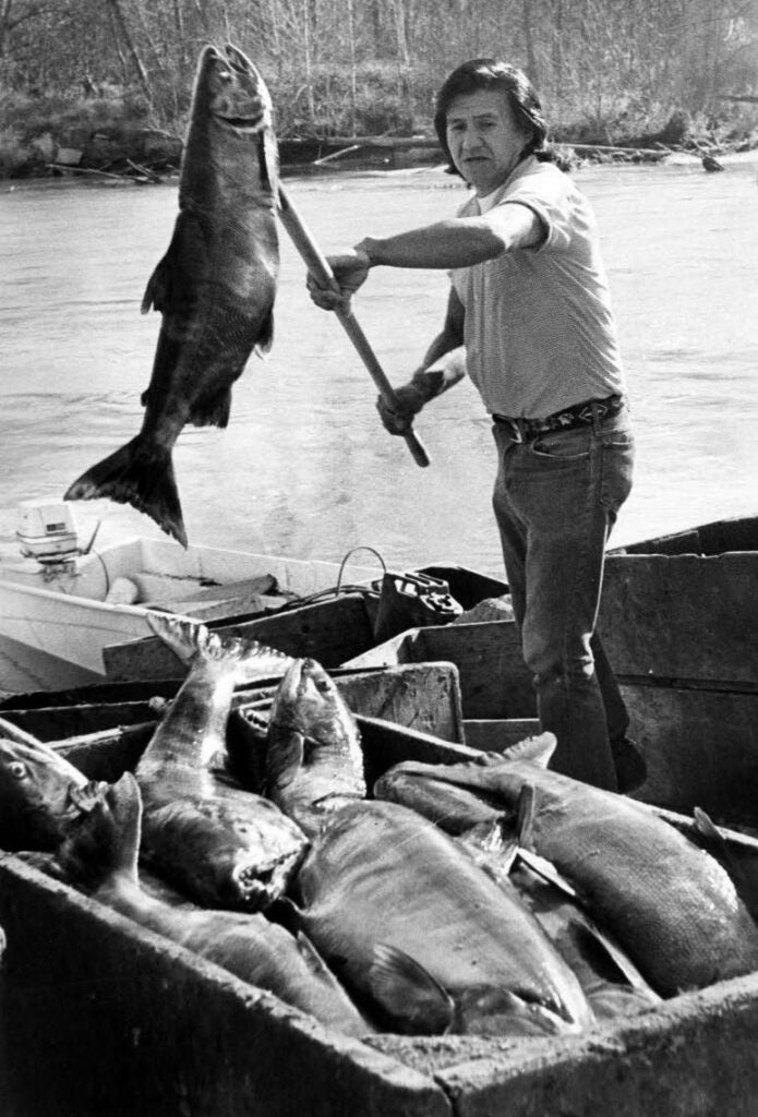
M 534 789 L 527 848 L 551 861 L 661 996 L 758 970 L 758 927 L 728 872 L 643 803 L 550 772 L 555 737 L 483 763 L 395 770 L 484 791 L 516 810 Z

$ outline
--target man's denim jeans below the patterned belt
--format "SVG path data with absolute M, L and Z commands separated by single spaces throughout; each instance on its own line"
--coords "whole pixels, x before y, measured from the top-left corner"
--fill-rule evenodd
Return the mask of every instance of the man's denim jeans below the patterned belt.
M 540 725 L 558 739 L 550 767 L 615 791 L 610 741 L 623 736 L 626 717 L 598 656 L 604 703 L 593 647 L 605 544 L 632 487 L 629 410 L 526 442 L 497 422 L 493 435 L 492 504 Z

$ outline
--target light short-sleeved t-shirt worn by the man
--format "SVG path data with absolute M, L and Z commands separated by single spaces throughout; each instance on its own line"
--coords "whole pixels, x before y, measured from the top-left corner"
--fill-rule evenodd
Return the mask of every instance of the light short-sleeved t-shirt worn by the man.
M 625 391 L 595 218 L 584 194 L 553 163 L 524 160 L 497 191 L 471 197 L 473 217 L 515 202 L 539 217 L 536 248 L 503 252 L 450 275 L 463 304 L 467 370 L 484 407 L 539 419 Z

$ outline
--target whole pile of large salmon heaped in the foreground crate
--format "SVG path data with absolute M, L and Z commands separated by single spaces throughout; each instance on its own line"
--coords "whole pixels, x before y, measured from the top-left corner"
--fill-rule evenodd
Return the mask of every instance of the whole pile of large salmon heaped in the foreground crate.
M 135 772 L 88 783 L 48 746 L 0 741 L 4 848 L 51 852 L 103 904 L 349 1035 L 572 1035 L 758 970 L 719 860 L 550 772 L 549 734 L 368 789 L 316 661 L 153 626 L 189 671 Z M 232 756 L 233 688 L 271 674 L 267 729 Z

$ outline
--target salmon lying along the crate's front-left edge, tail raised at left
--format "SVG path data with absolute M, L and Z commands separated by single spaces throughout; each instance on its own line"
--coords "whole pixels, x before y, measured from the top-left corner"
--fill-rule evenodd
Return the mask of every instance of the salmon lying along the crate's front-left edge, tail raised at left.
M 347 1035 L 372 1030 L 304 935 L 295 938 L 260 914 L 210 910 L 181 897 L 172 901 L 166 890 L 160 898 L 147 892 L 137 870 L 141 817 L 140 789 L 131 773 L 104 784 L 95 808 L 61 847 L 58 860 L 69 878 L 99 903 L 328 1028 Z

